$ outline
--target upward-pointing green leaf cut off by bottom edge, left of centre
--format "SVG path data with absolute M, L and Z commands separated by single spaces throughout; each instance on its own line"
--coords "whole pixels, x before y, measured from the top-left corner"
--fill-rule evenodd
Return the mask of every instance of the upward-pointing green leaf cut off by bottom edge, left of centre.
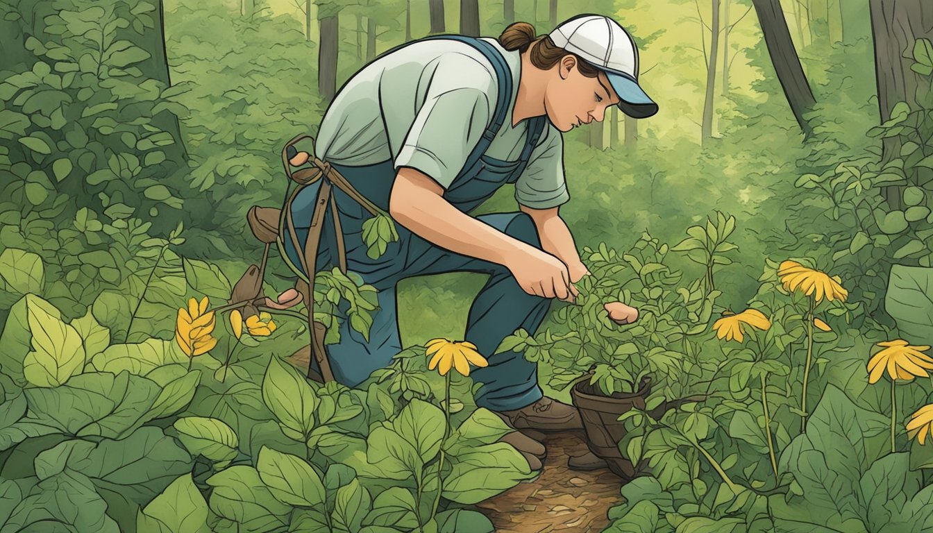
M 136 531 L 152 533 L 210 533 L 207 501 L 191 473 L 180 476 L 150 501 L 136 517 Z

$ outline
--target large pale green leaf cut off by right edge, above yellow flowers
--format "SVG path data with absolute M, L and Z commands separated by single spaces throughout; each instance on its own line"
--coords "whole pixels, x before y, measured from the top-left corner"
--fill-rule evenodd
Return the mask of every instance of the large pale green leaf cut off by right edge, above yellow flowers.
M 893 265 L 884 309 L 908 342 L 933 339 L 933 268 Z

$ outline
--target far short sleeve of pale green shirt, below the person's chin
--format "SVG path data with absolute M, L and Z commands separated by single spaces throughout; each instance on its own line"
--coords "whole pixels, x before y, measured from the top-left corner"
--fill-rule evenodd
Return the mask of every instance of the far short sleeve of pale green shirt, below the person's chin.
M 564 137 L 551 124 L 515 182 L 515 200 L 533 209 L 550 209 L 570 200 L 564 182 Z

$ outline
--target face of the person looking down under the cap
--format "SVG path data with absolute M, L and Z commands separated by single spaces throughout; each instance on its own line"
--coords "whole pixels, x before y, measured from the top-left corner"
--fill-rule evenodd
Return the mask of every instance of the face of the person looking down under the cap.
M 597 77 L 580 74 L 578 61 L 572 55 L 564 56 L 557 64 L 544 95 L 548 119 L 562 132 L 569 132 L 579 124 L 592 120 L 601 122 L 609 105 L 619 104 L 619 97 L 609 85 L 606 73 Z

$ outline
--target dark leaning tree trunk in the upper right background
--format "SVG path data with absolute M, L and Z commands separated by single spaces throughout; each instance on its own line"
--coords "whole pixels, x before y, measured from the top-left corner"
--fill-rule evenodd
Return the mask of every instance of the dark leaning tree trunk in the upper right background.
M 797 119 L 803 134 L 809 136 L 813 133 L 813 129 L 803 118 L 803 114 L 810 111 L 816 101 L 807 77 L 803 74 L 801 59 L 797 56 L 794 43 L 790 40 L 784 12 L 781 11 L 777 0 L 752 0 L 752 4 L 758 14 L 761 33 L 764 34 L 764 42 L 771 55 L 771 63 L 774 65 L 777 79 L 781 82 L 781 87 L 784 88 L 784 94 L 787 96 L 787 104 L 790 105 L 790 110 L 794 113 L 794 118 Z

